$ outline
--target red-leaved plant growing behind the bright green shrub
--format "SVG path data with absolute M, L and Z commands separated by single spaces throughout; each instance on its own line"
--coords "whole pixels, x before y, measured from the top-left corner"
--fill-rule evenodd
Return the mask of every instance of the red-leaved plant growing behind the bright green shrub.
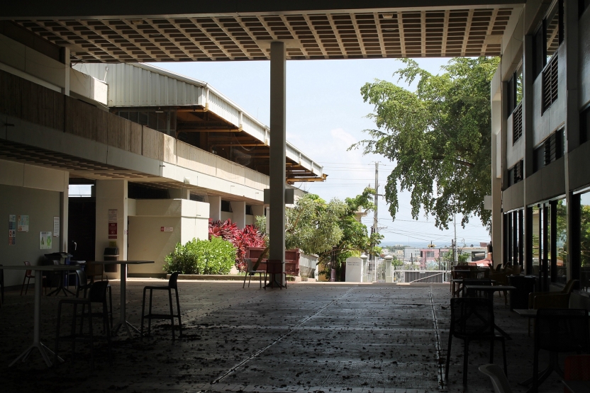
M 240 271 L 245 271 L 247 268 L 246 248 L 265 246 L 264 237 L 254 225 L 246 225 L 244 229 L 240 230 L 238 225 L 229 219 L 224 222 L 209 219 L 209 240 L 211 237 L 221 237 L 233 244 L 235 247 L 235 267 Z

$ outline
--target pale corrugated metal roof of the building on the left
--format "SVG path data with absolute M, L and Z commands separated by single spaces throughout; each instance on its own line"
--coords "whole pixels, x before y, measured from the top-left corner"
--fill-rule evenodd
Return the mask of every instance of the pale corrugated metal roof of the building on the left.
M 228 123 L 241 125 L 243 132 L 270 144 L 269 127 L 204 81 L 141 63 L 79 63 L 72 67 L 108 84 L 108 107 L 207 106 Z M 317 176 L 323 174 L 323 166 L 289 142 L 286 156 Z

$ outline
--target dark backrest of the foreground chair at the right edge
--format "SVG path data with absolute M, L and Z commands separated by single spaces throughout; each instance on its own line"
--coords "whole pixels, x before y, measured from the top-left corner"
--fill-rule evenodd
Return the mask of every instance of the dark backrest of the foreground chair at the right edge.
M 552 352 L 589 351 L 588 310 L 538 309 L 535 348 Z

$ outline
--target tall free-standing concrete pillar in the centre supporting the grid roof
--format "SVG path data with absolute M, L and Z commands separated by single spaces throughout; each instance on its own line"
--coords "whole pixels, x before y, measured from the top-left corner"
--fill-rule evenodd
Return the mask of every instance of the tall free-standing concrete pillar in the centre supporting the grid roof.
M 286 50 L 284 42 L 270 44 L 270 200 L 273 207 L 267 232 L 269 259 L 285 259 Z

